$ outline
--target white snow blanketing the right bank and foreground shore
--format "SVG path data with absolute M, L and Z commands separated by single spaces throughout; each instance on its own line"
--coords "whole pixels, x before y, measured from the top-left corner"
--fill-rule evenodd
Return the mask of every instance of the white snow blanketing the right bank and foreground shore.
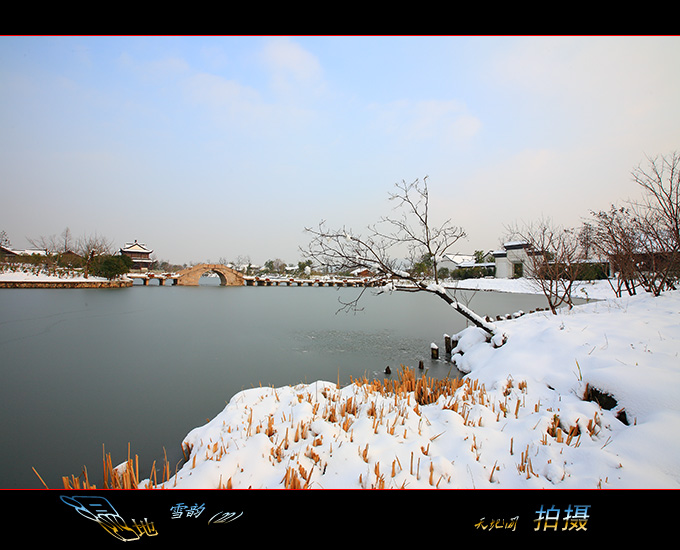
M 455 335 L 467 374 L 432 404 L 360 383 L 242 391 L 186 436 L 189 458 L 163 486 L 677 489 L 680 291 L 616 299 L 606 281 L 584 288 L 606 299 L 499 322 L 502 347 L 476 327 Z M 584 400 L 587 387 L 615 407 Z

